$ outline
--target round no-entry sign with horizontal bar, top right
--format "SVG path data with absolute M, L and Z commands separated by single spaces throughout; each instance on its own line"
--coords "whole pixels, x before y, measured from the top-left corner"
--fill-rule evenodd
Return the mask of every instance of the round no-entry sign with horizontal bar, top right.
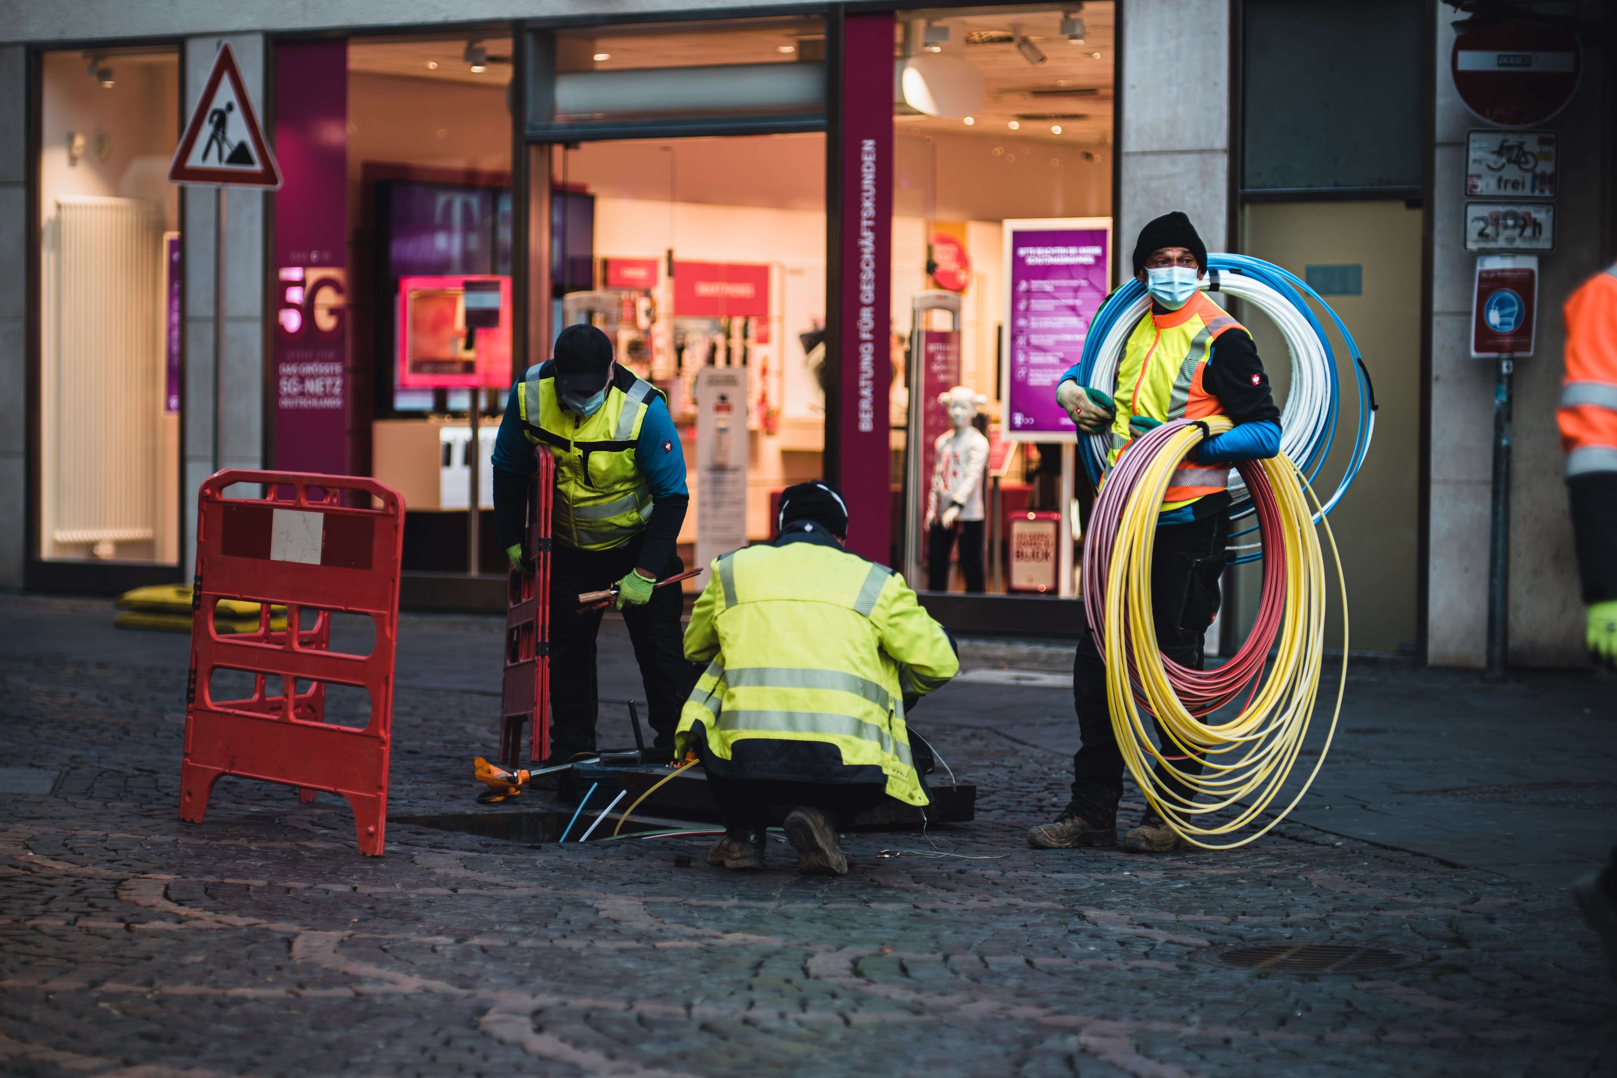
M 1460 100 L 1480 118 L 1501 128 L 1530 128 L 1572 100 L 1583 50 L 1572 31 L 1497 23 L 1455 37 L 1449 71 Z

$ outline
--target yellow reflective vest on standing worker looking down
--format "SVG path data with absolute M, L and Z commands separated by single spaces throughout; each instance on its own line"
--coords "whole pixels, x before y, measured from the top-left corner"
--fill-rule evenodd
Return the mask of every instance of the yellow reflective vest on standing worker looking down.
M 606 401 L 589 419 L 561 407 L 548 364 L 522 375 L 517 411 L 529 444 L 556 457 L 551 535 L 574 550 L 613 550 L 652 519 L 652 490 L 634 459 L 647 401 L 658 390 L 616 368 Z

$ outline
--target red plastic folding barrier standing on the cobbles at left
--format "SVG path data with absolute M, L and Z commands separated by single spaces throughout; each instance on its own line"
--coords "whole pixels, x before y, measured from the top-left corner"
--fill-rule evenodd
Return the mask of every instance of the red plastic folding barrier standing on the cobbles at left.
M 264 483 L 270 493 L 226 498 L 233 483 Z M 382 507 L 344 507 L 343 491 L 353 493 L 351 503 Z M 202 483 L 181 819 L 202 823 L 213 784 L 238 774 L 296 785 L 306 802 L 315 790 L 341 794 L 354 810 L 361 852 L 382 855 L 403 551 L 404 499 L 375 480 L 226 470 Z M 220 635 L 218 600 L 262 603 L 259 630 Z M 285 630 L 270 629 L 272 603 L 286 608 Z M 310 609 L 312 624 L 304 625 Z M 333 613 L 372 619 L 370 655 L 330 650 Z M 215 698 L 215 671 L 251 674 L 252 695 Z M 272 679 L 280 684 L 272 687 Z M 327 684 L 365 690 L 364 729 L 325 721 Z

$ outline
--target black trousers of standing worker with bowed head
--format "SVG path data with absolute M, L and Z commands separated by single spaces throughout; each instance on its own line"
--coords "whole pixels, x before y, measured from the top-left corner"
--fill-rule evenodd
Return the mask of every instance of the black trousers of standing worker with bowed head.
M 579 613 L 579 593 L 600 592 L 618 583 L 640 556 L 640 537 L 616 550 L 576 550 L 556 545 L 550 554 L 550 758 L 564 763 L 577 753 L 595 752 L 595 716 L 600 692 L 595 680 L 595 634 L 605 609 Z M 671 577 L 684 569 L 674 556 L 657 569 Z M 695 667 L 686 661 L 684 629 L 679 616 L 684 600 L 679 585 L 652 592 L 645 606 L 626 606 L 634 659 L 640 664 L 647 719 L 655 747 L 673 753 L 679 708 L 695 684 Z

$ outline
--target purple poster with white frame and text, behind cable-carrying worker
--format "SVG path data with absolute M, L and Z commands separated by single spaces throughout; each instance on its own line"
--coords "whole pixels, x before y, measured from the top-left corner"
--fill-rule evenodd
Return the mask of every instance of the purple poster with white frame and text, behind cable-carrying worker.
M 1056 404 L 1056 383 L 1083 354 L 1083 338 L 1111 280 L 1111 218 L 1077 217 L 1004 223 L 1007 441 L 1075 441 Z

